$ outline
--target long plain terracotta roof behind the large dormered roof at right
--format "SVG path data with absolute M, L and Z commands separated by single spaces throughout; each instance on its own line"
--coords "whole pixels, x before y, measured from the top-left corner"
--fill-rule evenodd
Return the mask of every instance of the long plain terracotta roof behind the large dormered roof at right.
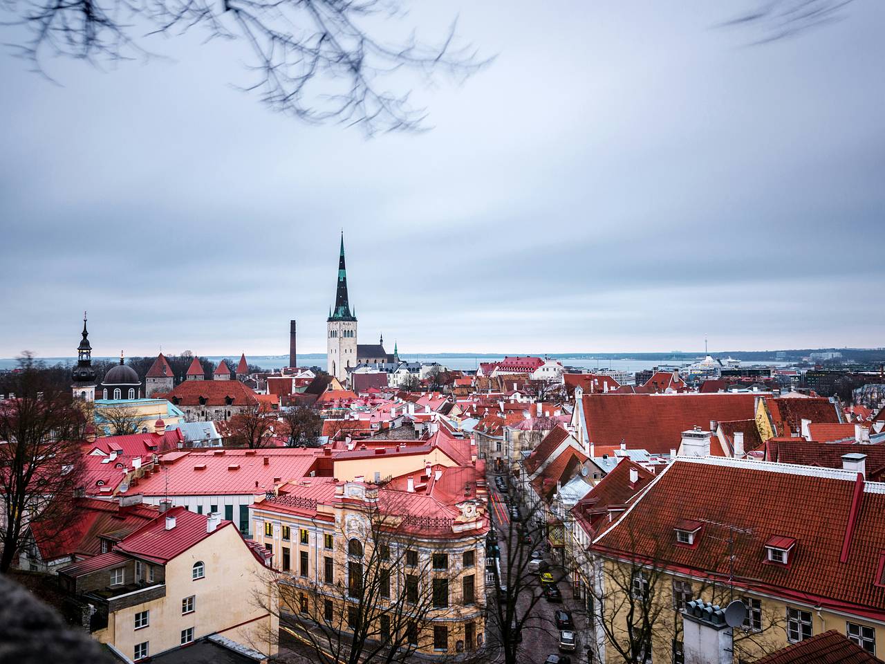
M 752 394 L 584 394 L 589 441 L 666 454 L 678 448 L 682 431 L 709 429 L 710 421 L 747 420 L 755 415 Z

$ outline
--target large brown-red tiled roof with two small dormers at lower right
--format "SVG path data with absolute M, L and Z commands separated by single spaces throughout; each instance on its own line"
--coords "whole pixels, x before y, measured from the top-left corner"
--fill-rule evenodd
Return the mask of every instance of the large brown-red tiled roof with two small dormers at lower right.
M 653 557 L 669 568 L 726 580 L 728 533 L 734 533 L 728 526 L 735 526 L 751 531 L 731 537 L 738 588 L 881 620 L 883 510 L 885 484 L 864 483 L 856 473 L 681 457 L 593 547 L 610 555 Z M 684 519 L 705 521 L 694 548 L 674 545 L 673 528 Z M 797 541 L 789 565 L 766 562 L 765 544 L 774 536 Z

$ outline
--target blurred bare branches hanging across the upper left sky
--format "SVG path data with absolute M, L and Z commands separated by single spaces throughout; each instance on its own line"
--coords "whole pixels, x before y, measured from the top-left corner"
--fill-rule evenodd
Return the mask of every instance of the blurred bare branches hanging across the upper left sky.
M 201 29 L 208 39 L 245 42 L 256 91 L 278 112 L 308 122 L 360 125 L 376 131 L 417 130 L 426 112 L 412 106 L 402 73 L 466 77 L 488 60 L 458 45 L 455 24 L 435 44 L 412 36 L 388 42 L 380 19 L 401 18 L 399 0 L 26 0 L 7 3 L 30 31 L 19 54 L 40 69 L 47 57 L 89 62 L 148 57 L 140 37 Z M 370 28 L 371 26 L 371 28 Z

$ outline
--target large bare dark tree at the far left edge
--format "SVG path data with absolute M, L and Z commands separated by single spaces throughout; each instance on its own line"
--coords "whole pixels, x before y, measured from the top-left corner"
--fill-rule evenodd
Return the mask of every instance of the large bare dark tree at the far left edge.
M 12 565 L 36 516 L 50 537 L 70 524 L 83 486 L 80 408 L 47 386 L 31 356 L 19 364 L 15 398 L 0 403 L 0 572 Z

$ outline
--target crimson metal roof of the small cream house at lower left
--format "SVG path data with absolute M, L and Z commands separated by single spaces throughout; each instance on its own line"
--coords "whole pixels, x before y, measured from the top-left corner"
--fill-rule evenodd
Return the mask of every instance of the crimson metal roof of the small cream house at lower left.
M 175 517 L 175 527 L 166 530 L 166 519 Z M 206 514 L 190 512 L 184 507 L 173 507 L 157 519 L 135 530 L 115 547 L 115 551 L 129 553 L 157 563 L 166 563 L 202 542 L 222 528 L 233 527 L 233 521 L 220 521 L 211 533 L 206 532 Z

